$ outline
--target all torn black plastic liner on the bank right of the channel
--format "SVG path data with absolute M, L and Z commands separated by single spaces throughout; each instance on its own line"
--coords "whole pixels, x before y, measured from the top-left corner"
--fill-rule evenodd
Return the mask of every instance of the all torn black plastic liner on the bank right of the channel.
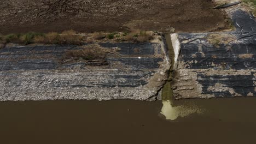
M 256 21 L 255 17 L 242 10 L 232 13 L 232 21 L 236 31 L 218 33 L 180 33 L 181 43 L 179 53 L 179 68 L 191 70 L 197 73 L 195 85 L 202 87 L 201 94 L 214 95 L 214 97 L 234 97 L 237 95 L 247 96 L 255 92 L 256 70 Z M 212 43 L 209 35 L 224 35 L 216 40 L 218 44 Z M 226 35 L 234 37 L 232 40 L 225 39 Z M 227 41 L 225 41 L 227 40 Z M 203 71 L 213 70 L 212 75 Z M 218 73 L 218 71 L 247 70 L 251 75 Z M 251 71 L 251 72 L 250 72 Z M 238 73 L 238 72 L 237 72 Z M 226 90 L 215 87 L 225 87 Z M 214 87 L 211 89 L 211 87 Z M 234 93 L 228 89 L 234 90 Z M 178 95 L 183 97 L 182 95 Z M 178 97 L 177 96 L 177 97 Z M 185 96 L 184 96 L 185 97 Z M 200 97 L 200 96 L 198 96 Z

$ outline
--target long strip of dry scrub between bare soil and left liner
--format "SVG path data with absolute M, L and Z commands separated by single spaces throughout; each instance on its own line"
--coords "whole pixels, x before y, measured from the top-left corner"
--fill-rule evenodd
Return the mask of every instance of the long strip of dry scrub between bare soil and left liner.
M 93 34 L 77 34 L 73 30 L 63 31 L 62 33 L 36 33 L 28 32 L 25 34 L 0 35 L 0 46 L 7 43 L 16 43 L 22 45 L 28 44 L 67 44 L 80 45 L 83 43 L 120 42 L 129 41 L 132 43 L 144 43 L 153 39 L 153 32 L 132 31 L 131 33 L 103 33 L 95 32 Z

